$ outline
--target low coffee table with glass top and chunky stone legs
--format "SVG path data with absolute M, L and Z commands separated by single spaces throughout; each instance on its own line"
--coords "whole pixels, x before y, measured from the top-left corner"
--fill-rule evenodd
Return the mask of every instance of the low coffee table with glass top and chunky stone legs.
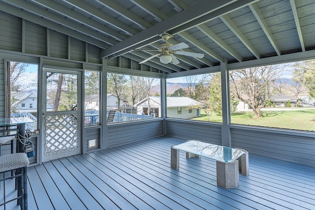
M 213 145 L 196 140 L 171 147 L 171 167 L 179 169 L 179 151 L 186 151 L 186 158 L 201 156 L 217 160 L 217 185 L 236 188 L 239 185 L 239 170 L 249 174 L 248 151 Z

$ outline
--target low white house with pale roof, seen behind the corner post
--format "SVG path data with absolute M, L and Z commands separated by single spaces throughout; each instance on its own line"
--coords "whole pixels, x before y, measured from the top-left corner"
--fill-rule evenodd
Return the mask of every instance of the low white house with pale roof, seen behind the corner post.
M 161 117 L 161 105 L 160 97 L 150 96 L 150 113 L 155 113 L 155 117 Z M 189 109 L 189 106 L 192 105 L 201 105 L 200 102 L 195 101 L 189 97 L 166 97 L 167 104 L 167 117 L 169 118 L 181 118 L 189 119 L 200 116 L 199 109 L 192 108 Z M 134 107 L 137 108 L 137 114 L 141 113 L 148 114 L 148 98 L 141 100 L 136 103 Z

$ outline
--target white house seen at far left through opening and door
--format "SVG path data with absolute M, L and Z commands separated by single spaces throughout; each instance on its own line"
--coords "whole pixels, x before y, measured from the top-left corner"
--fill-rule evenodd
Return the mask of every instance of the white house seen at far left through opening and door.
M 30 112 L 36 113 L 37 112 L 37 92 L 21 92 L 19 95 L 15 97 L 19 98 L 20 100 L 16 101 L 12 104 L 12 107 L 15 108 L 15 111 L 18 113 L 21 112 Z M 53 110 L 53 105 L 48 103 L 50 98 L 47 98 L 47 111 Z

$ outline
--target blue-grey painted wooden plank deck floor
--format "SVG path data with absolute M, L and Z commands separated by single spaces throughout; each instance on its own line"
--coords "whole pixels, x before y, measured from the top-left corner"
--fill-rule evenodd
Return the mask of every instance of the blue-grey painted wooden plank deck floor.
M 216 162 L 185 158 L 170 168 L 159 137 L 29 167 L 29 210 L 315 209 L 315 168 L 250 154 L 250 174 L 237 189 L 216 184 Z

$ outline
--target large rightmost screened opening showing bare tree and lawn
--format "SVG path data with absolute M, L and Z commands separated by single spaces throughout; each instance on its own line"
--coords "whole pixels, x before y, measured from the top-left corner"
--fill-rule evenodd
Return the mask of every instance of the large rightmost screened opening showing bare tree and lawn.
M 315 131 L 315 60 L 229 72 L 231 123 Z

